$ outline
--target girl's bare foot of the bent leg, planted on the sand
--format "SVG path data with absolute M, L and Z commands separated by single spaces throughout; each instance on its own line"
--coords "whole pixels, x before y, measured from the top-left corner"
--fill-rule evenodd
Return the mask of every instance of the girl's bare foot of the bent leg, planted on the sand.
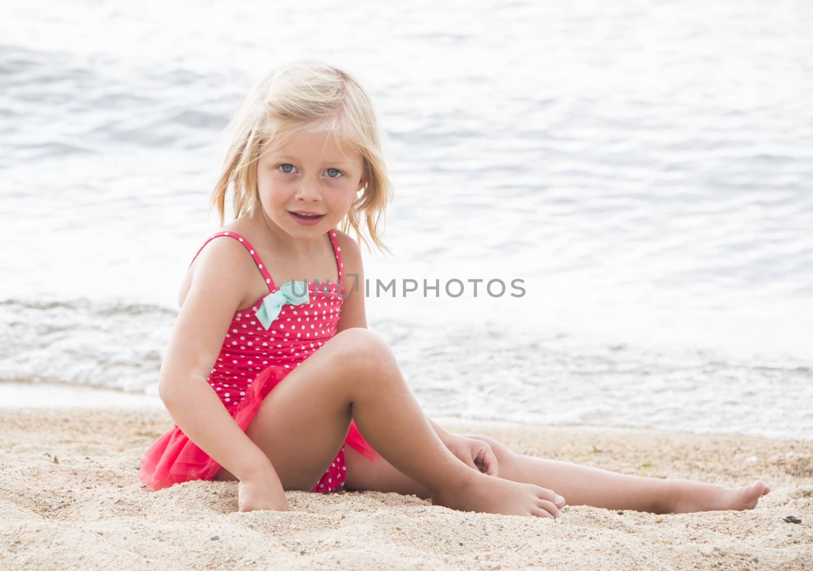
M 534 484 L 524 484 L 471 471 L 463 482 L 432 495 L 433 505 L 461 512 L 506 516 L 557 517 L 564 498 Z

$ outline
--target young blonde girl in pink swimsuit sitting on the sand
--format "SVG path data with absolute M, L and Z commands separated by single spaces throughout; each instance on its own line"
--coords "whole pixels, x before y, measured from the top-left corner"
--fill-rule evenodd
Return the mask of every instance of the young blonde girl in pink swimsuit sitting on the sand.
M 337 68 L 290 63 L 256 85 L 233 129 L 212 202 L 222 224 L 231 188 L 235 219 L 180 287 L 159 377 L 176 425 L 144 455 L 146 486 L 237 480 L 241 512 L 287 511 L 285 490 L 380 490 L 537 517 L 565 499 L 692 512 L 767 494 L 763 482 L 726 490 L 542 460 L 434 423 L 367 329 L 360 249 L 335 229 L 386 250 L 391 190 L 366 91 Z

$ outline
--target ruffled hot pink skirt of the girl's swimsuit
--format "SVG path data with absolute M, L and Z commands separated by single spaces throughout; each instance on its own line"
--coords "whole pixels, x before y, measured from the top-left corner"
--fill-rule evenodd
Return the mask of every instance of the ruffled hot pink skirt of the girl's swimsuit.
M 246 396 L 239 403 L 226 407 L 229 415 L 244 432 L 266 395 L 291 370 L 276 366 L 264 369 L 246 389 Z M 371 462 L 378 457 L 378 453 L 359 433 L 354 421 L 350 421 L 345 443 Z M 342 446 L 328 471 L 311 491 L 327 494 L 344 487 L 347 473 L 344 451 L 345 447 Z M 220 468 L 220 464 L 189 440 L 178 425 L 173 425 L 144 453 L 138 479 L 153 490 L 161 490 L 189 480 L 214 480 Z

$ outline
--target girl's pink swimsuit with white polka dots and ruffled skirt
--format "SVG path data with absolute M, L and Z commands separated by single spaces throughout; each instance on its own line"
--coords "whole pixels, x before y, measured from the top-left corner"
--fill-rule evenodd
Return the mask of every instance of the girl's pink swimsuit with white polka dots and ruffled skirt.
M 246 247 L 263 274 L 269 294 L 280 290 L 254 247 L 234 232 L 212 234 L 198 249 L 192 261 L 207 243 L 220 236 L 234 238 Z M 336 255 L 338 283 L 309 282 L 307 287 L 310 299 L 306 303 L 285 303 L 268 329 L 265 329 L 255 315 L 263 304 L 265 295 L 250 307 L 234 313 L 207 382 L 244 431 L 254 418 L 260 403 L 274 386 L 336 334 L 343 301 L 341 294 L 344 294 L 344 264 L 341 262 L 341 248 L 333 229 L 328 231 L 328 236 Z M 378 456 L 359 433 L 354 421 L 350 422 L 345 444 L 350 444 L 368 460 L 375 460 Z M 324 476 L 311 491 L 327 494 L 343 489 L 346 479 L 344 451 L 345 447 L 342 445 Z M 220 468 L 220 464 L 189 440 L 178 425 L 173 425 L 172 429 L 147 449 L 141 459 L 138 478 L 153 490 L 160 490 L 189 480 L 212 480 Z

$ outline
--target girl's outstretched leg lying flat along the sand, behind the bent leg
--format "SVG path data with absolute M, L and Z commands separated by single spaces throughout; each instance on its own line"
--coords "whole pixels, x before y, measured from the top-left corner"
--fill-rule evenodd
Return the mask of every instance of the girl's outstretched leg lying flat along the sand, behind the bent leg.
M 759 497 L 769 491 L 763 482 L 727 490 L 688 480 L 628 476 L 517 454 L 493 438 L 474 434 L 463 436 L 489 443 L 497 456 L 499 477 L 548 488 L 563 495 L 569 505 L 656 513 L 741 510 L 754 508 Z M 428 490 L 424 486 L 398 472 L 383 459 L 371 463 L 357 451 L 346 447 L 345 460 L 347 489 L 393 491 L 428 498 Z

